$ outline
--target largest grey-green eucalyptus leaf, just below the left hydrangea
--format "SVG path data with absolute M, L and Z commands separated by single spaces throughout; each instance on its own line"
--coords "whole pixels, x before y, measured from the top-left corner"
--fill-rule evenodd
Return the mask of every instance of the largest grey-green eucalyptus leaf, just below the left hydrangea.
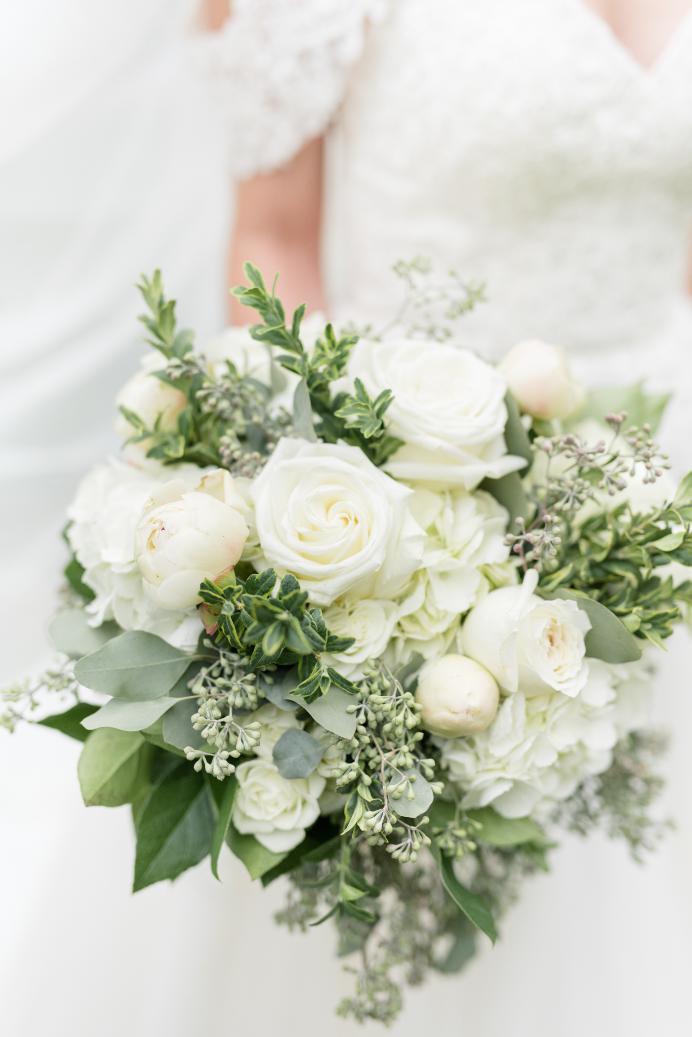
M 128 630 L 81 658 L 75 676 L 94 692 L 143 702 L 165 695 L 189 665 L 189 655 L 156 634 Z

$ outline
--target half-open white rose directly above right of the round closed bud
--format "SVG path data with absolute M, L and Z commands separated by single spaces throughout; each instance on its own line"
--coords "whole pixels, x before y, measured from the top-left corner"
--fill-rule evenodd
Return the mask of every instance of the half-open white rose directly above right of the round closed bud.
M 574 697 L 588 679 L 584 635 L 588 616 L 576 601 L 544 601 L 529 570 L 519 587 L 504 587 L 472 609 L 462 629 L 464 652 L 511 694 L 550 689 Z

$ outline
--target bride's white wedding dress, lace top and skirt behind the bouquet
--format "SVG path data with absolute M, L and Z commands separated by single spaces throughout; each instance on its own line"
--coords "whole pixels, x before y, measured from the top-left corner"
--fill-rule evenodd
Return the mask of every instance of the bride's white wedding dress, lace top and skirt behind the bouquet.
M 487 282 L 489 303 L 459 326 L 486 356 L 543 337 L 569 349 L 588 384 L 647 377 L 674 389 L 661 438 L 677 475 L 692 467 L 692 15 L 644 71 L 580 0 L 232 6 L 196 48 L 237 173 L 271 170 L 328 133 L 333 313 L 389 318 L 399 301 L 391 264 L 427 255 Z M 660 658 L 655 722 L 672 733 L 665 808 L 677 831 L 644 868 L 604 838 L 565 838 L 552 874 L 525 885 L 496 949 L 408 992 L 392 1033 L 687 1032 L 685 632 Z M 16 765 L 6 781 L 20 776 Z M 87 823 L 77 809 L 71 831 Z M 306 936 L 273 928 L 280 884 L 262 892 L 227 854 L 223 888 L 202 864 L 129 899 L 127 812 L 85 813 L 93 842 L 85 849 L 82 835 L 78 857 L 65 838 L 55 873 L 45 862 L 34 874 L 40 907 L 5 968 L 22 1006 L 12 1037 L 361 1032 L 332 1014 L 351 979 L 329 926 Z

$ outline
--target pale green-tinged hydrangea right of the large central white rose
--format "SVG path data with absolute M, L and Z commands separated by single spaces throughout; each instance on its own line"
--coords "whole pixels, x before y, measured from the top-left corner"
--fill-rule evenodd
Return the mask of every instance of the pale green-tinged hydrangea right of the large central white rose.
M 409 507 L 425 530 L 421 568 L 399 601 L 394 655 L 435 658 L 459 637 L 461 616 L 495 587 L 516 582 L 504 543 L 507 512 L 483 491 L 417 488 Z

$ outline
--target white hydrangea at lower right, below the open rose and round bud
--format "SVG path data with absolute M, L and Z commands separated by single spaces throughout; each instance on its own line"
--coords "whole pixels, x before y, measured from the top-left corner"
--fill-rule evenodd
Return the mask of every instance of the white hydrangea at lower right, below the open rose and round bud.
M 439 740 L 442 765 L 466 808 L 492 804 L 504 817 L 545 815 L 588 775 L 606 770 L 615 742 L 646 723 L 651 680 L 643 663 L 589 662 L 586 685 L 508 696 L 485 731 Z

